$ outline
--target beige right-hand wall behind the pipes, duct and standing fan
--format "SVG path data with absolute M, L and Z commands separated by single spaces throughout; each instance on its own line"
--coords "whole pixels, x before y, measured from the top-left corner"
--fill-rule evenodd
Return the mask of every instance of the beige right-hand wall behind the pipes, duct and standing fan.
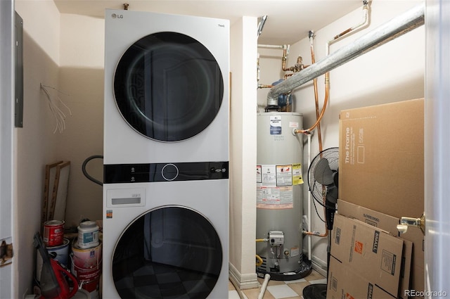
M 330 53 L 354 41 L 354 39 L 373 30 L 396 15 L 422 1 L 371 1 L 370 25 L 330 46 Z M 316 61 L 325 56 L 326 44 L 340 32 L 361 23 L 362 9 L 349 13 L 330 25 L 314 30 L 314 52 Z M 270 21 L 270 20 L 269 20 Z M 258 49 L 262 75 L 260 84 L 271 84 L 280 79 L 282 50 Z M 311 64 L 310 43 L 308 37 L 290 46 L 287 66 L 292 66 L 297 56 L 302 56 L 305 65 Z M 359 58 L 341 65 L 330 72 L 330 98 L 326 113 L 321 122 L 323 148 L 339 146 L 338 116 L 340 110 L 371 106 L 379 103 L 422 98 L 424 96 L 425 75 L 425 28 L 419 27 L 392 42 L 374 49 Z M 319 106 L 324 98 L 324 76 L 318 78 Z M 258 91 L 259 107 L 266 106 L 266 89 Z M 316 120 L 314 89 L 312 82 L 294 90 L 294 110 L 304 115 L 304 128 L 314 125 Z M 311 157 L 319 153 L 317 134 L 312 137 Z M 307 148 L 304 148 L 304 178 L 307 178 Z M 305 180 L 305 182 L 307 182 Z M 304 215 L 307 214 L 307 185 L 304 186 Z M 324 225 L 312 209 L 313 231 L 324 231 Z M 321 209 L 319 209 L 321 210 Z M 326 238 L 312 237 L 312 257 L 321 266 L 326 265 Z M 308 248 L 308 238 L 304 238 L 304 250 Z

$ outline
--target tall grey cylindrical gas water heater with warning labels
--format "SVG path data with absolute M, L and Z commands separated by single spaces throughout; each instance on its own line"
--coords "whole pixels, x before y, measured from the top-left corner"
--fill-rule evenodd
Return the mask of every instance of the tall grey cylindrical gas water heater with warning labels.
M 300 113 L 257 114 L 257 274 L 274 280 L 309 273 L 302 255 L 302 129 Z

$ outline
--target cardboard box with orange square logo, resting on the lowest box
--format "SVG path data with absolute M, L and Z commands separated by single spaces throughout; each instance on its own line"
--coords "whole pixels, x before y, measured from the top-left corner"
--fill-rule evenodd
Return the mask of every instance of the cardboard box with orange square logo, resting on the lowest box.
M 404 245 L 401 238 L 336 214 L 330 243 L 333 257 L 355 274 L 397 297 Z

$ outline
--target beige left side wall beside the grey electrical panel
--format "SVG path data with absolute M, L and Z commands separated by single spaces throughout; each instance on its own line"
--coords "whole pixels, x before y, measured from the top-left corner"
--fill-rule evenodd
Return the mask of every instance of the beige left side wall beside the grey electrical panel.
M 23 18 L 23 128 L 15 129 L 15 293 L 31 291 L 33 235 L 40 229 L 44 166 L 56 159 L 55 119 L 40 84 L 58 88 L 60 15 L 53 1 L 15 1 Z M 52 92 L 52 94 L 54 94 Z

